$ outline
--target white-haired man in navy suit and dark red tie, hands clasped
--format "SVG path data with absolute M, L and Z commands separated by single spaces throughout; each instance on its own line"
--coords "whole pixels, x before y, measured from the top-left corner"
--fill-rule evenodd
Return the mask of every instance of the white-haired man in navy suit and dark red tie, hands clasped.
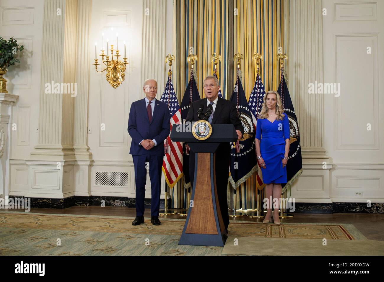
M 132 225 L 144 222 L 144 196 L 147 168 L 151 179 L 151 223 L 160 225 L 160 180 L 164 157 L 164 140 L 170 133 L 169 110 L 156 99 L 157 82 L 147 79 L 145 98 L 133 102 L 129 111 L 128 133 L 132 137 L 131 150 L 135 167 L 136 218 Z

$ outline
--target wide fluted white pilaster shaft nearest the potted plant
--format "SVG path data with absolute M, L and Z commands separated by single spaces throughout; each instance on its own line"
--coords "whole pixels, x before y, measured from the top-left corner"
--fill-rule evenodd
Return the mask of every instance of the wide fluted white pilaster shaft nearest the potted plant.
M 77 0 L 44 2 L 39 139 L 31 155 L 73 155 L 75 97 L 54 89 L 46 93 L 46 83 L 75 83 L 77 5 Z

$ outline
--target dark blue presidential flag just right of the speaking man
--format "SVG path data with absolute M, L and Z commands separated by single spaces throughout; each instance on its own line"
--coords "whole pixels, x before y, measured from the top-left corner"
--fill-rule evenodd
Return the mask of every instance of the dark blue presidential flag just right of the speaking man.
M 236 142 L 233 142 L 231 150 L 229 181 L 232 184 L 232 187 L 236 189 L 257 171 L 255 154 L 256 128 L 253 124 L 253 114 L 248 106 L 247 98 L 245 97 L 238 73 L 230 101 L 236 104 L 238 116 L 244 127 L 243 138 L 238 142 L 238 146 Z M 236 147 L 238 147 L 237 150 Z

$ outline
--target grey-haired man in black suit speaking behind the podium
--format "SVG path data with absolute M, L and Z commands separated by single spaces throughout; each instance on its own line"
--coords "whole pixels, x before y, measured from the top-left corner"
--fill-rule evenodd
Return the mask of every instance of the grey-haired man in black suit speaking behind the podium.
M 244 128 L 241 124 L 239 117 L 237 116 L 236 105 L 232 102 L 219 98 L 218 91 L 220 85 L 215 76 L 207 76 L 203 81 L 204 87 L 204 99 L 200 99 L 191 104 L 187 122 L 195 122 L 203 119 L 202 115 L 198 117 L 198 113 L 202 111 L 204 114 L 207 112 L 207 107 L 212 105 L 212 114 L 209 116 L 210 124 L 233 124 L 238 140 L 243 137 Z M 229 216 L 228 216 L 228 204 L 227 204 L 227 185 L 229 176 L 229 165 L 231 159 L 231 145 L 230 142 L 220 143 L 216 150 L 216 188 L 217 197 L 220 205 L 220 211 L 223 217 L 225 230 L 228 232 Z M 190 152 L 189 157 L 189 174 L 191 176 L 191 185 L 193 187 L 193 175 L 195 174 L 195 154 Z

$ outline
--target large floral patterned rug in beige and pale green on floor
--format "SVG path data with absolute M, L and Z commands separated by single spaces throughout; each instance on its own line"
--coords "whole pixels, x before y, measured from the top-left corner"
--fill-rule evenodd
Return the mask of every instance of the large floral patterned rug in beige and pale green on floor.
M 160 218 L 161 225 L 154 226 L 146 218 L 144 224 L 132 226 L 133 219 L 0 211 L 0 255 L 222 254 L 223 247 L 178 245 L 185 219 Z M 225 246 L 244 237 L 251 241 L 257 238 L 284 239 L 279 240 L 281 242 L 289 239 L 366 239 L 352 224 L 284 223 L 277 226 L 249 221 L 230 223 L 228 236 Z

